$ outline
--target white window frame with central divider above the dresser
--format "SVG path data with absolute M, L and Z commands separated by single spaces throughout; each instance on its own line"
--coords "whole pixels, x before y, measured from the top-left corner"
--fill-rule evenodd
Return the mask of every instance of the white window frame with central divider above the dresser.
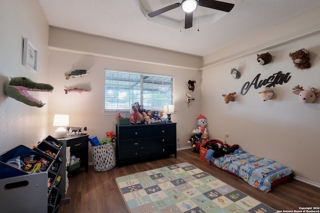
M 161 108 L 152 108 L 152 109 L 150 109 L 150 107 L 149 106 L 145 106 L 144 108 L 146 109 L 146 110 L 152 110 L 152 111 L 161 111 L 161 110 L 163 110 L 163 105 L 174 105 L 174 76 L 172 76 L 172 75 L 163 75 L 163 74 L 154 74 L 154 73 L 146 73 L 146 72 L 136 72 L 136 71 L 128 71 L 128 70 L 116 70 L 116 69 L 109 69 L 109 68 L 105 68 L 104 69 L 104 111 L 103 111 L 103 114 L 110 114 L 110 113 L 112 113 L 112 112 L 115 112 L 116 110 L 120 110 L 120 112 L 122 112 L 122 113 L 129 113 L 129 111 L 130 111 L 130 108 L 131 108 L 131 104 L 133 104 L 134 102 L 132 101 L 132 103 L 129 103 L 129 106 L 127 106 L 127 108 L 112 108 L 112 109 L 107 109 L 106 108 L 106 101 L 107 101 L 107 82 L 106 82 L 106 80 L 107 80 L 107 78 L 106 78 L 106 73 L 123 73 L 123 74 L 128 74 L 128 75 L 132 75 L 132 76 L 139 76 L 140 77 L 140 91 L 139 91 L 139 93 L 140 93 L 140 98 L 139 98 L 139 100 L 138 101 L 134 101 L 134 102 L 138 102 L 140 105 L 144 105 L 143 103 L 145 103 L 145 102 L 143 102 L 143 94 L 145 94 L 145 93 L 143 93 L 143 84 L 147 84 L 147 82 L 146 81 L 144 81 L 144 79 L 143 79 L 143 76 L 144 77 L 150 77 L 150 78 L 154 78 L 154 77 L 162 77 L 162 78 L 169 78 L 169 81 L 170 81 L 170 86 L 169 86 L 169 88 L 166 88 L 166 89 L 169 89 L 170 91 L 171 91 L 171 97 L 169 98 L 169 99 L 161 99 L 161 101 L 162 101 L 162 107 Z M 117 83 L 116 84 L 113 84 L 113 86 L 114 85 L 119 85 L 119 83 L 118 83 L 118 78 L 114 78 L 114 79 L 116 79 L 117 80 Z M 132 82 L 131 80 L 128 80 L 128 82 Z M 159 81 L 160 82 L 160 81 Z M 154 83 L 152 83 L 152 85 L 153 85 Z M 112 84 L 109 84 L 109 85 L 111 85 L 112 86 Z M 117 87 L 118 88 L 118 87 Z M 132 88 L 131 86 L 129 86 L 129 88 Z M 152 87 L 153 88 L 153 87 Z M 156 87 L 156 88 L 161 88 L 162 90 L 163 90 L 163 81 L 162 81 L 162 86 L 161 87 Z M 118 94 L 118 91 L 119 90 L 116 90 L 117 91 L 117 94 Z M 151 93 L 152 94 L 152 96 L 153 96 L 153 92 Z M 163 95 L 163 94 L 162 94 Z M 133 97 L 131 96 L 131 92 L 130 92 L 130 94 L 128 95 L 129 96 L 129 101 L 130 100 L 133 100 Z M 118 99 L 118 97 L 119 96 L 117 96 L 116 97 L 116 99 Z M 132 97 L 132 98 L 131 98 Z M 144 98 L 145 99 L 145 98 Z M 156 98 L 152 98 L 152 103 L 154 103 L 154 100 L 156 100 Z M 159 100 L 159 99 L 158 99 Z M 170 100 L 170 101 L 169 101 Z M 119 103 L 118 101 L 117 101 L 117 103 Z M 152 104 L 153 105 L 153 104 Z

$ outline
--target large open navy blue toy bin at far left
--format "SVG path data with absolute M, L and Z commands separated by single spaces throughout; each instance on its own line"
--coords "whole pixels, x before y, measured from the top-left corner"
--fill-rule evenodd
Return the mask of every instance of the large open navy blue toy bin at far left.
M 43 153 L 36 152 L 30 148 L 27 148 L 26 146 L 19 145 L 9 151 L 6 151 L 0 155 L 0 179 L 4 178 L 11 178 L 15 176 L 21 176 L 21 175 L 27 175 L 28 173 L 17 169 L 16 167 L 10 166 L 6 164 L 7 161 L 14 159 L 18 156 L 20 156 L 20 160 L 24 160 L 24 158 L 29 158 L 30 155 L 34 155 L 33 159 L 36 161 L 41 160 L 42 158 L 48 161 L 49 163 L 47 164 L 48 166 L 46 167 L 45 171 L 42 172 L 47 172 L 53 163 L 53 159 L 49 158 L 47 155 Z

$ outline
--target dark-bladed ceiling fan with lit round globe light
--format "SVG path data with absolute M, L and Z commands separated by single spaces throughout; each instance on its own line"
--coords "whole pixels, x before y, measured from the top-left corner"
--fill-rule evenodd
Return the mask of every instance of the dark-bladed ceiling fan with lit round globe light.
M 222 10 L 225 12 L 231 11 L 234 4 L 233 3 L 227 3 L 217 0 L 182 0 L 181 3 L 174 3 L 168 6 L 165 6 L 161 9 L 155 10 L 153 12 L 148 13 L 149 17 L 154 17 L 156 15 L 159 15 L 163 12 L 169 11 L 171 9 L 174 9 L 176 7 L 181 6 L 183 11 L 185 11 L 185 20 L 184 20 L 184 28 L 190 28 L 192 26 L 192 16 L 193 16 L 193 10 L 199 6 L 205 6 L 212 9 Z

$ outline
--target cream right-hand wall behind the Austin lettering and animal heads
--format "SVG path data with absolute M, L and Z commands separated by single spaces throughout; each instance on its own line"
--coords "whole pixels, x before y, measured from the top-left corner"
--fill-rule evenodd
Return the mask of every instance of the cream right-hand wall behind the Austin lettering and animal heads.
M 296 176 L 319 184 L 320 98 L 304 104 L 292 93 L 297 85 L 320 89 L 319 41 L 318 34 L 267 49 L 272 61 L 263 66 L 256 63 L 256 54 L 250 54 L 204 69 L 201 111 L 207 116 L 211 136 L 223 141 L 228 134 L 228 144 L 239 144 L 254 155 L 278 161 L 292 168 Z M 296 69 L 288 56 L 301 48 L 311 54 L 312 67 L 307 70 Z M 240 71 L 239 79 L 230 75 L 230 67 Z M 291 78 L 272 87 L 273 100 L 262 101 L 258 92 L 263 87 L 251 86 L 245 95 L 240 94 L 243 84 L 251 83 L 258 73 L 263 80 L 278 71 L 289 72 Z M 221 95 L 230 92 L 236 92 L 235 102 L 225 104 Z

